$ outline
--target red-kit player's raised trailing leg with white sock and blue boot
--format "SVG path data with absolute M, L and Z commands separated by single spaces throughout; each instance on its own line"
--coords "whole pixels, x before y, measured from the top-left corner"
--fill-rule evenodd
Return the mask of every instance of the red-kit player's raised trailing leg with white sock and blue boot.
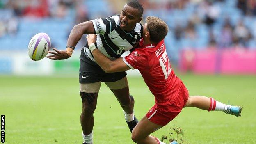
M 206 96 L 189 96 L 185 107 L 197 107 L 208 111 L 223 111 L 226 114 L 232 114 L 237 117 L 241 116 L 242 111 L 239 106 L 226 105 Z

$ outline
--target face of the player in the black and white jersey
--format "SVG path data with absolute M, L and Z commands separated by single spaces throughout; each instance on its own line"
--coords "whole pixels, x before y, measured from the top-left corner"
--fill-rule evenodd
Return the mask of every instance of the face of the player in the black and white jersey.
M 134 29 L 136 23 L 139 23 L 142 18 L 139 16 L 139 10 L 133 7 L 124 5 L 120 14 L 120 28 L 122 30 L 131 31 Z

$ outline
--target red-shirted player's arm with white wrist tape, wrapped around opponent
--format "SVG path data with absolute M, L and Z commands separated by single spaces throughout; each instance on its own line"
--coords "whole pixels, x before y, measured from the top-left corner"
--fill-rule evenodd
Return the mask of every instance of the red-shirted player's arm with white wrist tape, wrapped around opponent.
M 91 50 L 94 59 L 98 62 L 98 65 L 101 66 L 101 69 L 106 73 L 113 73 L 113 72 L 121 72 L 130 69 L 129 66 L 123 62 L 122 58 L 118 58 L 115 60 L 110 60 L 105 55 L 103 55 L 94 45 L 96 42 L 96 34 L 89 34 L 87 35 L 87 41 L 89 45 L 89 49 Z

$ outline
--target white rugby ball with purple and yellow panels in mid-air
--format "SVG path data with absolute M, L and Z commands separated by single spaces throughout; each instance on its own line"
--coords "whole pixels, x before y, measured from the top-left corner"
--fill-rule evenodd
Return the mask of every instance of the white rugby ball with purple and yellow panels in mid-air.
M 50 50 L 50 37 L 46 33 L 38 33 L 28 43 L 27 53 L 30 59 L 37 61 L 43 59 Z

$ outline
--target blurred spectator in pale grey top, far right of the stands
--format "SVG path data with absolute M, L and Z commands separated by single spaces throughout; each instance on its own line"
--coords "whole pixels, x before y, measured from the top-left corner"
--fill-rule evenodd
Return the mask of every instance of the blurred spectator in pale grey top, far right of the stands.
M 249 32 L 249 29 L 245 27 L 242 20 L 238 21 L 238 24 L 235 26 L 233 37 L 236 43 L 239 43 L 242 46 L 248 46 L 248 42 L 251 39 L 251 33 Z

